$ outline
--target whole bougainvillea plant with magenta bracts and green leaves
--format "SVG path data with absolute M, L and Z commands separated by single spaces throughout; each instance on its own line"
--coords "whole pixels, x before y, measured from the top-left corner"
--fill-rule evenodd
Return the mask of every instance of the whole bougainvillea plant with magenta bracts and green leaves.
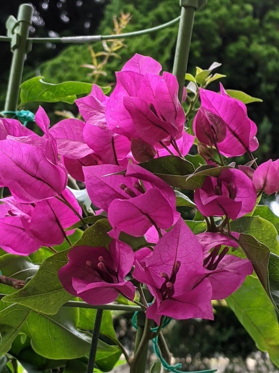
M 107 305 L 139 312 L 135 352 L 117 341 L 106 311 L 96 368 L 112 369 L 123 352 L 131 372 L 141 372 L 148 340 L 163 340 L 166 320 L 213 320 L 212 301 L 226 299 L 278 364 L 279 343 L 263 344 L 259 334 L 268 337 L 264 323 L 278 330 L 279 245 L 257 206 L 263 192 L 279 191 L 278 160 L 257 165 L 257 127 L 243 94 L 222 84 L 219 93 L 208 90 L 218 78 L 209 73 L 186 75 L 181 103 L 176 77 L 136 54 L 109 96 L 94 84 L 76 100 L 81 119 L 50 127 L 39 106 L 42 136 L 0 120 L 0 184 L 9 190 L 0 204 L 0 246 L 9 253 L 0 257 L 2 353 L 26 343 L 50 367 L 58 359 L 83 363 L 94 307 Z M 244 154 L 248 163 L 238 164 Z M 89 208 L 78 204 L 75 180 Z M 16 269 L 5 272 L 9 260 Z M 28 276 L 18 279 L 22 271 Z M 66 307 L 71 299 L 92 308 Z M 255 316 L 258 306 L 269 318 Z

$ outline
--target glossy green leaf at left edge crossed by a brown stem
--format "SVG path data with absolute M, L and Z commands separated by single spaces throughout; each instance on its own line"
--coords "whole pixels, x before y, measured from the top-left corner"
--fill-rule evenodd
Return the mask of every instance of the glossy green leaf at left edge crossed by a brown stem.
M 12 277 L 18 280 L 26 280 L 28 277 L 35 275 L 39 266 L 33 264 L 28 257 L 5 254 L 0 257 L 0 270 L 2 275 Z M 8 285 L 0 284 L 0 293 L 12 294 L 15 288 Z

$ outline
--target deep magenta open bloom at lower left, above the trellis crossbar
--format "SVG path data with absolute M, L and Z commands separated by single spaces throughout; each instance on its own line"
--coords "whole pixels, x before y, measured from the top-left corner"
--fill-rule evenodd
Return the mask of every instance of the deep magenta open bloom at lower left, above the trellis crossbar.
M 135 287 L 125 280 L 132 268 L 134 253 L 128 245 L 113 240 L 105 247 L 77 246 L 68 253 L 69 263 L 58 276 L 64 288 L 89 304 L 107 304 L 119 293 L 134 299 Z

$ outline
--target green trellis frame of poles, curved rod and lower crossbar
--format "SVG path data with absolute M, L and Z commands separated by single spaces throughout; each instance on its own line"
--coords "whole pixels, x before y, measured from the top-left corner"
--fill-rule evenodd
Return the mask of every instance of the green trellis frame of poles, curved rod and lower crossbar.
M 23 66 L 26 54 L 31 51 L 32 43 L 94 43 L 101 40 L 134 37 L 160 31 L 161 29 L 174 25 L 178 21 L 180 22 L 174 57 L 173 74 L 176 75 L 179 83 L 179 100 L 181 101 L 185 83 L 185 73 L 187 69 L 194 16 L 195 12 L 204 6 L 205 3 L 206 0 L 180 0 L 181 15 L 174 18 L 170 22 L 163 23 L 162 25 L 158 25 L 153 28 L 120 35 L 93 35 L 62 38 L 29 38 L 29 28 L 32 23 L 33 7 L 30 4 L 21 4 L 19 6 L 17 18 L 10 16 L 6 22 L 7 36 L 0 36 L 0 41 L 10 43 L 11 50 L 13 52 L 4 110 L 6 112 L 15 112 L 17 110 Z M 9 116 L 10 114 L 7 115 Z M 4 295 L 5 294 L 0 294 L 0 299 L 3 298 Z M 139 306 L 118 304 L 92 306 L 90 304 L 78 301 L 69 301 L 64 304 L 64 307 L 65 306 L 97 309 L 87 373 L 92 373 L 94 367 L 103 310 L 124 310 L 132 312 L 141 311 L 141 307 Z M 141 366 L 138 367 L 137 373 L 144 373 L 144 371 L 145 365 L 141 364 Z

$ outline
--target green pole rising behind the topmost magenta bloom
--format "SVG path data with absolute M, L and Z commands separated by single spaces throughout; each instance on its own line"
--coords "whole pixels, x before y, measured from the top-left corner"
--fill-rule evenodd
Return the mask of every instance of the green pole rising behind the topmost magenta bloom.
M 180 101 L 185 83 L 195 11 L 205 3 L 206 0 L 180 0 L 181 18 L 173 64 L 173 74 L 177 77 L 179 84 L 178 98 Z

